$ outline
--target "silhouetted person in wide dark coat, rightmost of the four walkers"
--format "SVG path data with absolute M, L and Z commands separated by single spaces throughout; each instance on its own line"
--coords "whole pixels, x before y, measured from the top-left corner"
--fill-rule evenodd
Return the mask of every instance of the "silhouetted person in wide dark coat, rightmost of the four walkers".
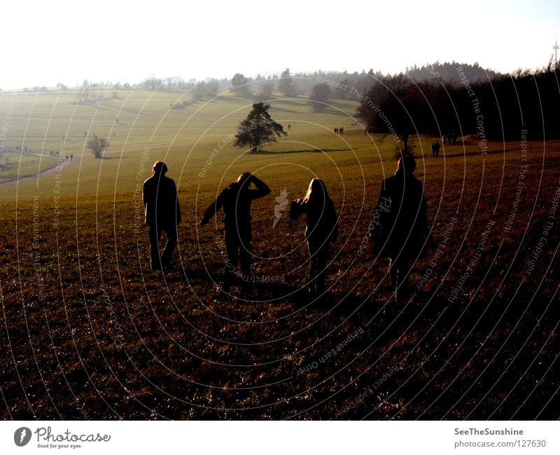
M 395 175 L 381 184 L 372 221 L 374 252 L 390 259 L 395 299 L 399 288 L 403 290 L 401 285 L 409 274 L 410 262 L 423 257 L 427 238 L 426 199 L 421 182 L 412 174 L 415 168 L 414 156 L 399 159 Z

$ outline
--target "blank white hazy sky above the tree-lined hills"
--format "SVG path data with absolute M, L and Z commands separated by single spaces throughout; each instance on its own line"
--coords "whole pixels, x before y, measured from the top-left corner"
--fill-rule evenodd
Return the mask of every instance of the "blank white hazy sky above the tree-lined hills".
M 0 7 L 0 88 L 456 60 L 547 64 L 560 1 L 26 1 Z

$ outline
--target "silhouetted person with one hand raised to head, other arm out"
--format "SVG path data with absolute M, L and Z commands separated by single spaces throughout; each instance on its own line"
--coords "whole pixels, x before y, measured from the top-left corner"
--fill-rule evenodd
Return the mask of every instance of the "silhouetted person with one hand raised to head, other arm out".
M 251 184 L 255 189 L 251 189 Z M 200 224 L 208 224 L 211 217 L 223 207 L 223 224 L 225 228 L 225 251 L 228 264 L 225 266 L 225 283 L 233 278 L 233 268 L 237 259 L 241 262 L 244 280 L 251 278 L 251 202 L 267 196 L 270 189 L 251 172 L 239 175 L 237 182 L 224 189 L 216 201 L 210 204 Z

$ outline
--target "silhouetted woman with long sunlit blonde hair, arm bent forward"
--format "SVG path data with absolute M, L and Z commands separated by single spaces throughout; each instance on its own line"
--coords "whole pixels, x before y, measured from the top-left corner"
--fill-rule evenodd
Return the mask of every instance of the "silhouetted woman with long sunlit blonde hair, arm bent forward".
M 312 179 L 307 194 L 290 205 L 289 217 L 296 219 L 302 213 L 307 215 L 305 238 L 309 247 L 309 290 L 318 296 L 325 290 L 328 250 L 338 237 L 335 204 L 328 196 L 323 180 Z

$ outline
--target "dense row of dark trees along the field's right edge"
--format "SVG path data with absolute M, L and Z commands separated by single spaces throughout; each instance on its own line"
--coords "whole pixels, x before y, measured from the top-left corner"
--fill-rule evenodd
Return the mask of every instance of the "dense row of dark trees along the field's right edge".
M 560 137 L 560 67 L 470 81 L 417 82 L 407 74 L 376 79 L 360 99 L 356 115 L 372 133 L 394 134 L 407 151 L 409 137 L 475 134 L 484 140 Z M 461 74 L 463 73 L 463 74 Z

